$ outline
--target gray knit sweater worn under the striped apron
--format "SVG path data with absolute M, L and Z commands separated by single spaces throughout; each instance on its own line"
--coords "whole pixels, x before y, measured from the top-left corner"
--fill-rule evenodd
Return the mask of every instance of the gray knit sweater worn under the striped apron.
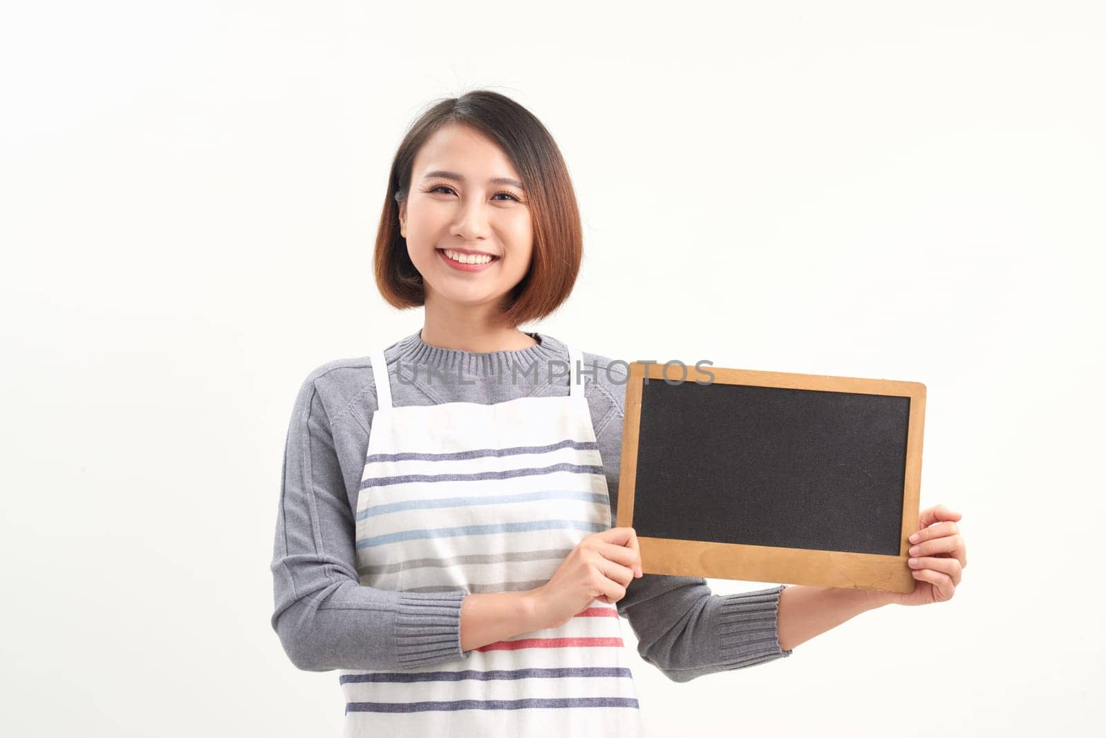
M 567 394 L 567 347 L 552 336 L 529 335 L 541 344 L 483 354 L 429 346 L 421 331 L 393 344 L 385 349 L 393 403 L 489 404 Z M 583 360 L 584 397 L 615 521 L 626 365 L 586 351 Z M 375 410 L 367 357 L 317 367 L 292 410 L 271 567 L 271 624 L 301 670 L 397 671 L 465 657 L 463 591 L 396 592 L 358 581 L 354 513 Z M 700 578 L 646 573 L 630 581 L 617 608 L 638 639 L 641 658 L 670 679 L 687 682 L 791 655 L 776 634 L 784 587 L 719 595 Z

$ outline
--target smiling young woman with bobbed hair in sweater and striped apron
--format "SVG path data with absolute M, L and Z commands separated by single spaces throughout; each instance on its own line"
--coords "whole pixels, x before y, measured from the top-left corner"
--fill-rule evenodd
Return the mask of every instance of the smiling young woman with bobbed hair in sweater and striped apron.
M 922 513 L 910 594 L 643 576 L 634 530 L 611 527 L 625 370 L 519 329 L 567 298 L 581 256 L 567 170 L 530 112 L 477 91 L 411 126 L 375 272 L 424 325 L 304 381 L 272 562 L 272 626 L 298 667 L 340 671 L 346 736 L 639 736 L 619 614 L 687 682 L 960 582 L 942 506 Z

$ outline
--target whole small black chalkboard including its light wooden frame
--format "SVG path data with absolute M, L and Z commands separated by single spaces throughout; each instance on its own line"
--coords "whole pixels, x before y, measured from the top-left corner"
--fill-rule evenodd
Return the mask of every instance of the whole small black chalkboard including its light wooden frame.
M 924 384 L 629 373 L 617 525 L 646 571 L 912 590 Z

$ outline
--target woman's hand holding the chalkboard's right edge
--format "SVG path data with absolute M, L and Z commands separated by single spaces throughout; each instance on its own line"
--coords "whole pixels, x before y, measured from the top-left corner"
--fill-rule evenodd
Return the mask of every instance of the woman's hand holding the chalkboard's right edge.
M 968 566 L 963 536 L 957 527 L 960 513 L 945 505 L 921 512 L 921 528 L 911 535 L 907 566 L 917 584 L 912 592 L 881 592 L 889 604 L 931 604 L 951 600 Z

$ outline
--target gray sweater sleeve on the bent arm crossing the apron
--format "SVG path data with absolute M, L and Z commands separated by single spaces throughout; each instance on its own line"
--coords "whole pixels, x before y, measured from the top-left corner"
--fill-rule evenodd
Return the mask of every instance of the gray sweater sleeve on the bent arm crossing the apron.
M 462 590 L 397 592 L 359 583 L 354 517 L 325 407 L 307 377 L 284 445 L 273 546 L 271 625 L 309 672 L 399 671 L 468 658 Z

